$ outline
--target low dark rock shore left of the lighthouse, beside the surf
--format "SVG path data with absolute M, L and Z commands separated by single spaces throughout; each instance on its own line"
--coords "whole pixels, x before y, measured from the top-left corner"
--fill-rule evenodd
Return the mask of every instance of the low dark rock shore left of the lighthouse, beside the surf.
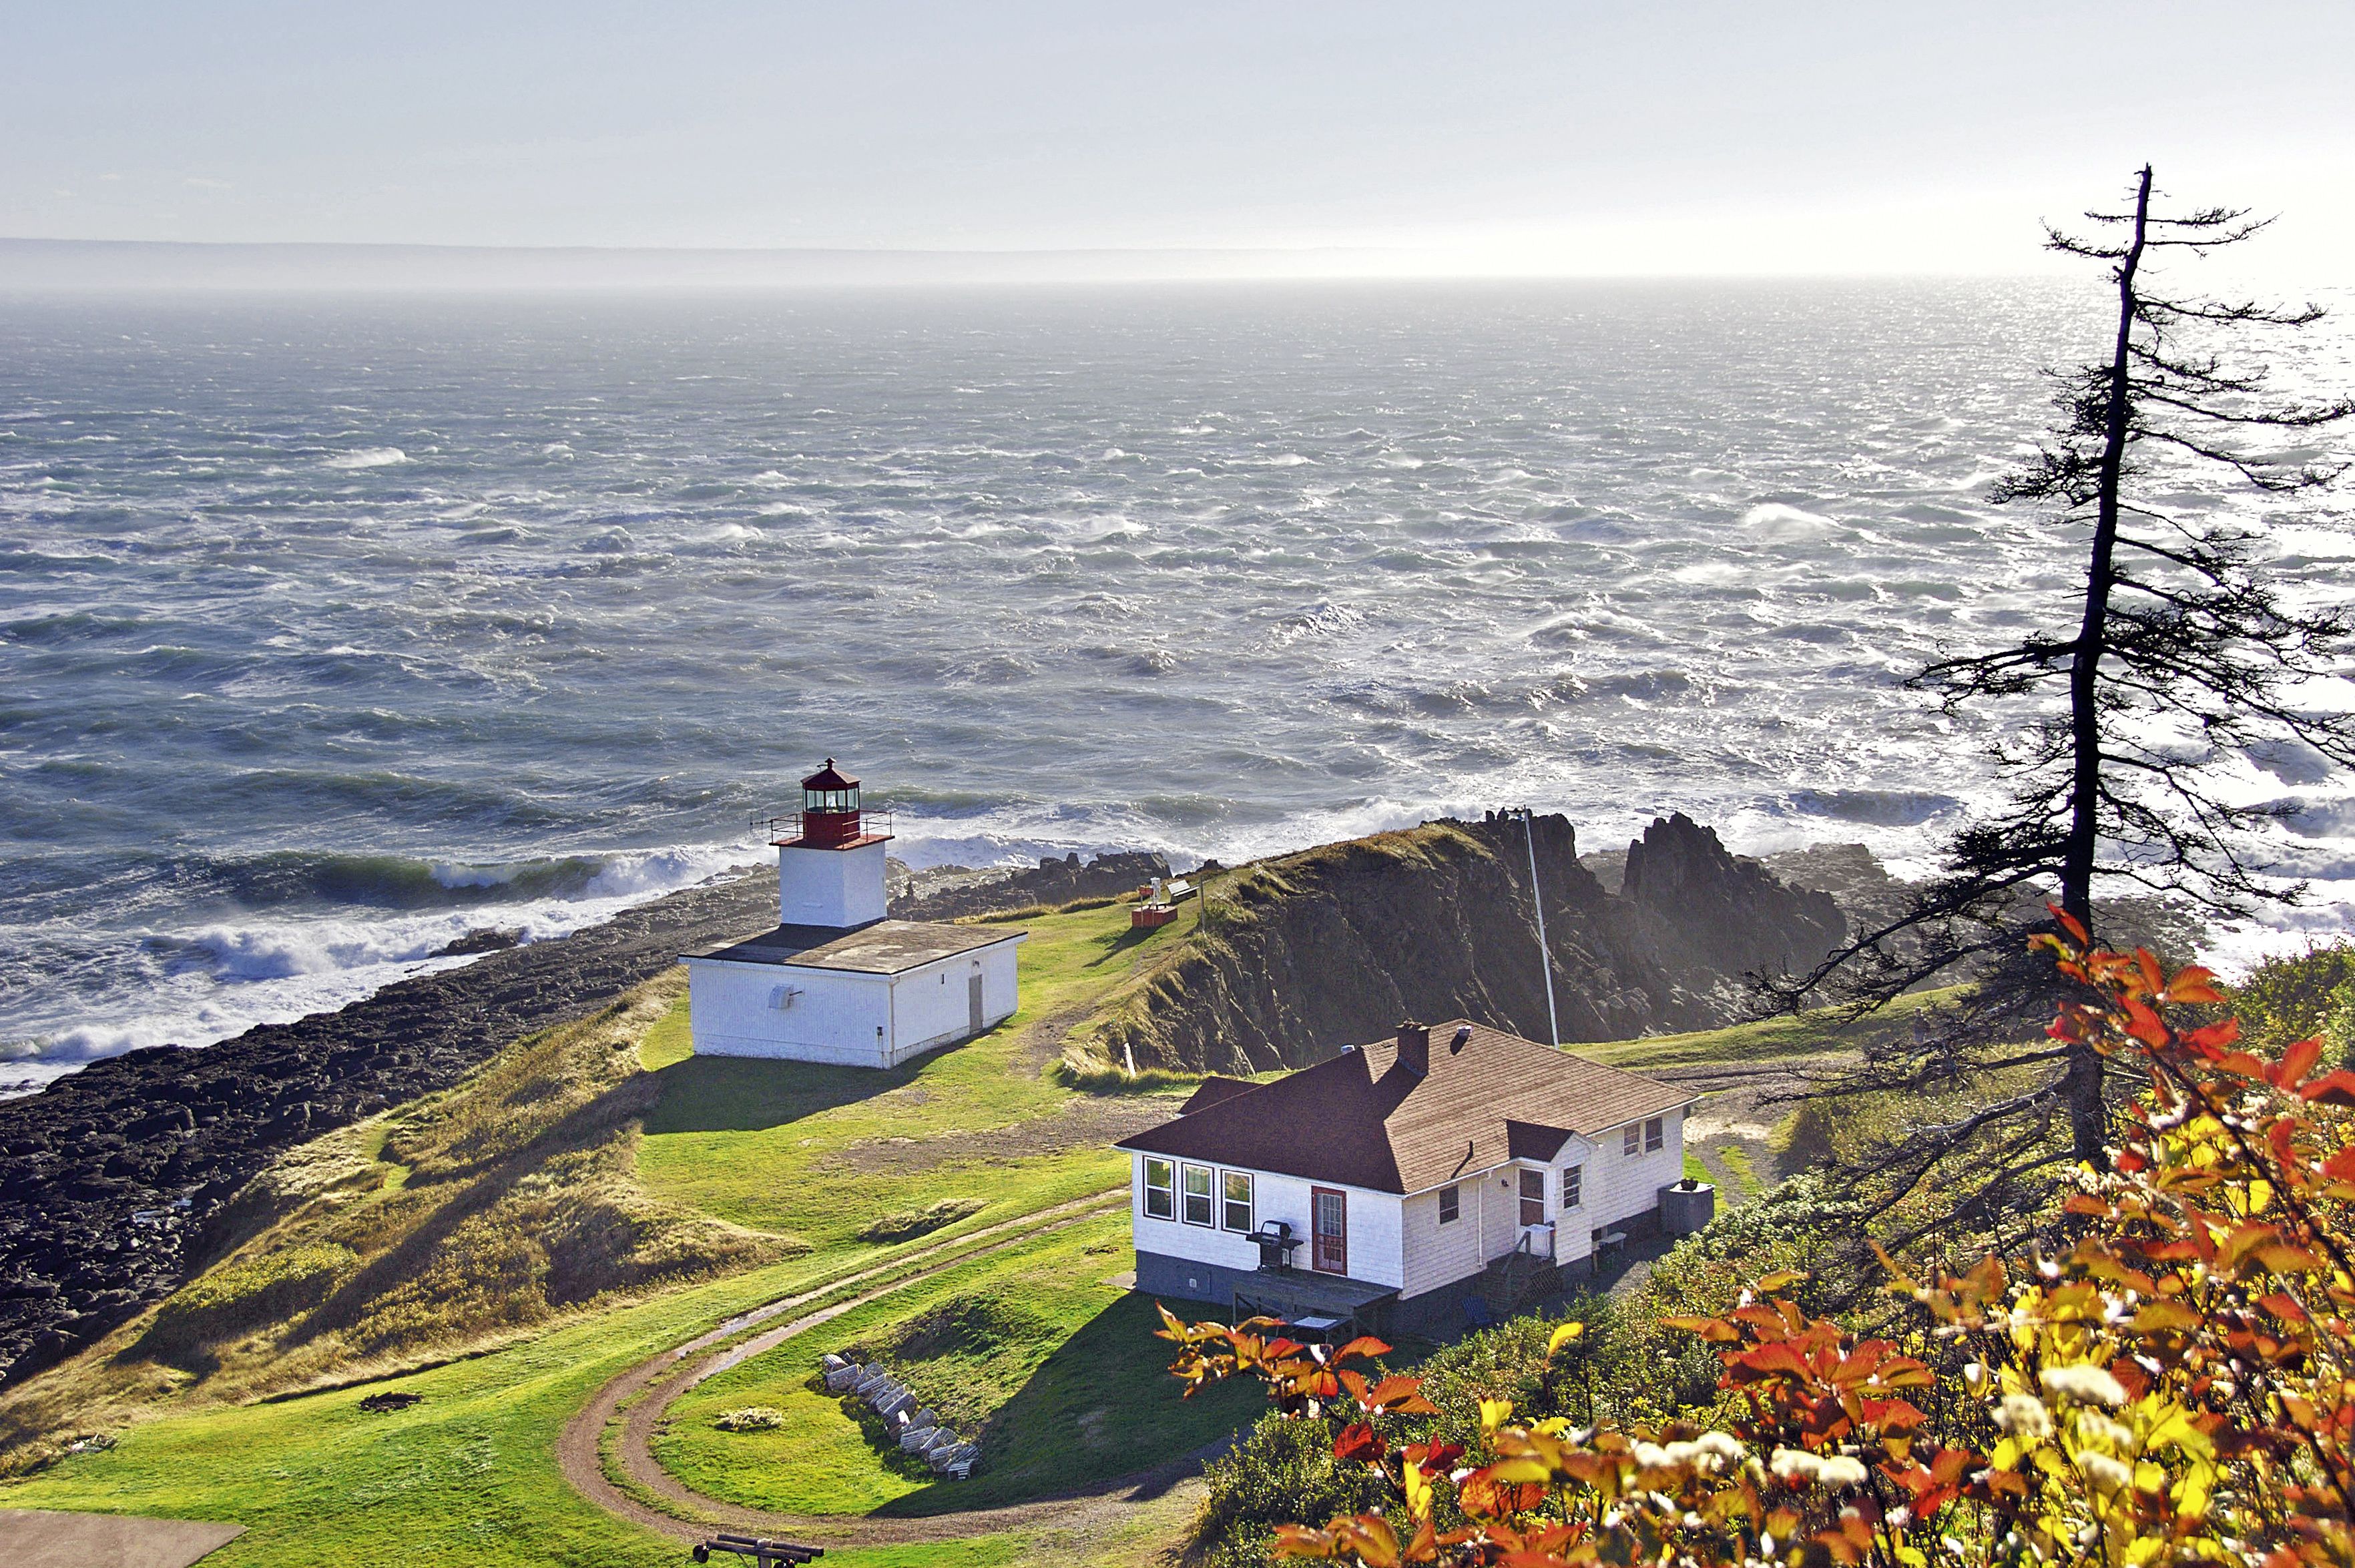
M 203 1050 L 130 1050 L 0 1102 L 0 1382 L 170 1295 L 205 1262 L 207 1222 L 287 1147 L 447 1088 L 516 1036 L 593 1012 L 681 951 L 775 921 L 775 876 L 690 888 L 339 1012 Z

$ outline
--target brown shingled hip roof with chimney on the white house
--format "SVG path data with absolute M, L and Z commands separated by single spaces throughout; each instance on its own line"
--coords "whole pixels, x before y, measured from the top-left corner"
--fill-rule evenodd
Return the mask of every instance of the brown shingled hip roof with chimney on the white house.
M 1460 1050 L 1458 1029 L 1470 1031 Z M 1658 1078 L 1451 1019 L 1432 1024 L 1425 1076 L 1399 1064 L 1397 1041 L 1380 1041 L 1116 1147 L 1406 1194 L 1507 1158 L 1550 1158 L 1571 1132 L 1592 1137 L 1691 1099 Z

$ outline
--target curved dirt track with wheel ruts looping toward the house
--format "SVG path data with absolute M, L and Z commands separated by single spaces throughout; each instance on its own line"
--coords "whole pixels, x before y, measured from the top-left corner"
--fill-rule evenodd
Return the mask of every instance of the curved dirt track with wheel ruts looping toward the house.
M 1062 1203 L 1057 1208 L 1039 1210 L 1034 1215 L 1022 1215 L 1020 1220 L 1006 1220 L 980 1231 L 968 1231 L 956 1241 L 947 1241 L 937 1248 L 926 1248 L 907 1257 L 893 1260 L 888 1264 L 876 1264 L 860 1274 L 831 1281 L 815 1290 L 803 1290 L 798 1295 L 780 1297 L 765 1307 L 756 1307 L 747 1314 L 728 1318 L 718 1328 L 688 1340 L 685 1344 L 650 1356 L 638 1366 L 629 1368 L 596 1396 L 582 1406 L 582 1410 L 565 1424 L 563 1436 L 556 1443 L 556 1462 L 572 1483 L 577 1493 L 596 1502 L 608 1514 L 626 1519 L 636 1526 L 669 1535 L 674 1540 L 702 1540 L 711 1528 L 735 1528 L 749 1533 L 789 1533 L 817 1544 L 902 1544 L 902 1542 L 933 1542 L 933 1540 L 963 1540 L 970 1535 L 994 1535 L 999 1530 L 1013 1530 L 1022 1526 L 1074 1526 L 1083 1523 L 1088 1514 L 1102 1514 L 1119 1509 L 1130 1497 L 1161 1495 L 1170 1483 L 1187 1476 L 1196 1460 L 1192 1455 L 1170 1460 L 1149 1471 L 1137 1471 L 1133 1476 L 1119 1476 L 1114 1481 L 1102 1481 L 1072 1493 L 1060 1493 L 1055 1497 L 1041 1497 L 1036 1502 L 1017 1502 L 994 1509 L 973 1509 L 966 1514 L 942 1514 L 937 1519 L 876 1519 L 862 1514 L 772 1514 L 765 1509 L 747 1509 L 718 1497 L 706 1497 L 695 1488 L 681 1483 L 655 1460 L 652 1441 L 655 1431 L 662 1427 L 664 1413 L 681 1394 L 695 1384 L 725 1373 L 777 1344 L 791 1340 L 794 1335 L 808 1333 L 820 1323 L 843 1316 L 878 1302 L 888 1295 L 907 1290 L 926 1278 L 956 1269 L 975 1257 L 987 1257 L 1006 1248 L 1020 1245 L 1041 1236 L 1046 1231 L 1062 1229 L 1067 1224 L 1081 1224 L 1107 1212 L 1116 1212 L 1126 1205 L 1128 1191 L 1116 1189 L 1112 1194 L 1097 1194 L 1093 1198 L 1079 1198 L 1074 1203 Z M 1008 1234 L 1013 1231 L 1013 1234 Z M 975 1241 L 987 1241 L 984 1245 L 973 1245 Z M 937 1262 L 933 1262 L 937 1260 Z M 918 1264 L 909 1274 L 897 1274 L 909 1264 Z M 824 1307 L 812 1307 L 810 1311 L 798 1311 L 820 1302 L 829 1295 L 841 1293 L 848 1285 L 869 1281 L 883 1274 L 893 1274 L 888 1283 L 874 1290 L 857 1290 Z M 716 1349 L 728 1340 L 735 1340 L 747 1328 L 770 1323 L 780 1316 L 789 1321 L 765 1328 L 749 1340 L 728 1344 L 728 1349 Z M 629 1406 L 626 1415 L 622 1406 Z M 690 1523 L 676 1514 L 648 1507 L 638 1497 L 631 1497 L 612 1476 L 608 1476 L 603 1464 L 603 1434 L 615 1422 L 622 1420 L 617 1441 L 617 1467 L 631 1481 L 631 1486 L 643 1488 L 666 1502 L 681 1507 L 688 1514 L 699 1516 L 704 1523 Z

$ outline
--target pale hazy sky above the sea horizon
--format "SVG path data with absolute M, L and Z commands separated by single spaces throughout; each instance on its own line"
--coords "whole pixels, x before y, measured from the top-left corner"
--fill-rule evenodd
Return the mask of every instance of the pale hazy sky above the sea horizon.
M 2355 280 L 2355 2 L 0 0 L 0 235 L 2023 271 L 2143 158 Z

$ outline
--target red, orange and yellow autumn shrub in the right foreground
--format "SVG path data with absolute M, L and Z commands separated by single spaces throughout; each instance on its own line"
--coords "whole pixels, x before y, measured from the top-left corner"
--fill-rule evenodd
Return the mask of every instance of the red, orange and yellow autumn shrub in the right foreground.
M 1891 1264 L 1908 1344 L 1811 1314 L 1802 1276 L 1776 1271 L 1724 1314 L 1663 1326 L 1714 1354 L 1705 1420 L 1580 1424 L 1484 1398 L 1467 1422 L 1437 1384 L 1385 1375 L 1378 1340 L 1302 1347 L 1281 1323 L 1163 1311 L 1189 1391 L 1265 1380 L 1272 1420 L 1375 1495 L 1324 1523 L 1302 1497 L 1274 1552 L 1368 1568 L 2355 1561 L 2355 1074 L 2310 1038 L 2242 1050 L 2230 1017 L 2197 1022 L 2223 1001 L 2204 970 L 2089 951 L 2061 923 L 2042 942 L 2084 1001 L 2051 1034 L 2136 1064 L 2145 1090 L 2112 1168 L 2079 1170 L 2063 1245 L 1929 1281 Z M 1583 1337 L 1554 1328 L 1547 1358 Z

